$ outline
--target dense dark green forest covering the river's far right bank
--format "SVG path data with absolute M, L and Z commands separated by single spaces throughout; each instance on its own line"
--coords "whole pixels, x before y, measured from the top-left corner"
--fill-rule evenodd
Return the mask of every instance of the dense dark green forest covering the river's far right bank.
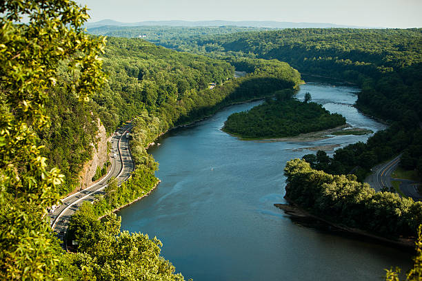
M 332 174 L 354 169 L 363 180 L 370 167 L 403 152 L 401 166 L 422 175 L 422 29 L 285 29 L 191 37 L 178 44 L 162 43 L 226 61 L 278 59 L 303 74 L 359 85 L 356 106 L 390 127 L 368 143 L 337 149 L 319 167 Z M 237 69 L 248 71 L 242 65 Z

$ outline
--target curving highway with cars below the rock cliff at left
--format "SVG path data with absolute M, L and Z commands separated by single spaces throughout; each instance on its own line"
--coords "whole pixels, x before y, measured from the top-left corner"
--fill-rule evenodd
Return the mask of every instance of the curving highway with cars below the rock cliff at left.
M 68 227 L 70 217 L 81 206 L 83 201 L 92 202 L 96 194 L 101 194 L 103 189 L 108 185 L 110 178 L 117 178 L 118 183 L 122 183 L 130 177 L 134 169 L 134 164 L 129 150 L 129 140 L 126 138 L 124 132 L 132 129 L 132 124 L 124 125 L 117 129 L 112 136 L 112 155 L 117 154 L 116 158 L 110 158 L 112 166 L 108 174 L 101 178 L 97 183 L 90 187 L 78 191 L 66 198 L 63 198 L 62 205 L 57 207 L 52 213 L 49 213 L 51 218 L 51 227 L 53 231 L 58 233 L 58 237 L 63 240 L 64 233 Z

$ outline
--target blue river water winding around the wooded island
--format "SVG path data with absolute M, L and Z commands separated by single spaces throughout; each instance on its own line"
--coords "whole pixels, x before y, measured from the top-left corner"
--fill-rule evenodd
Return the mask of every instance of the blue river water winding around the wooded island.
M 384 128 L 352 107 L 354 87 L 307 83 L 297 98 L 305 92 L 352 126 Z M 148 198 L 119 212 L 121 229 L 157 236 L 163 256 L 196 281 L 381 280 L 385 268 L 410 268 L 411 253 L 304 227 L 274 207 L 285 202 L 286 161 L 312 153 L 306 147 L 347 145 L 368 136 L 257 143 L 221 132 L 230 114 L 259 103 L 226 107 L 161 137 L 161 146 L 150 153 L 162 182 Z

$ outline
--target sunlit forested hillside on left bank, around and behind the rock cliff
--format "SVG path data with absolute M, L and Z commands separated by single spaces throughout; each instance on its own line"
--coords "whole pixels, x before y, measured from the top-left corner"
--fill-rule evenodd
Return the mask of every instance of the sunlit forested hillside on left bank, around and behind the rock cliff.
M 239 60 L 247 63 L 252 73 L 234 80 L 234 67 L 225 61 L 175 52 L 142 39 L 110 38 L 104 52 L 102 69 L 108 83 L 92 94 L 90 101 L 79 103 L 77 96 L 66 92 L 73 79 L 63 65 L 59 65 L 57 84 L 47 101 L 51 126 L 40 138 L 50 167 L 59 167 L 66 176 L 60 187 L 63 195 L 79 184 L 78 172 L 91 157 L 97 118 L 111 133 L 136 116 L 157 117 L 160 121 L 148 137 L 150 143 L 174 125 L 301 81 L 299 72 L 287 63 L 260 59 Z M 209 90 L 209 83 L 218 86 Z

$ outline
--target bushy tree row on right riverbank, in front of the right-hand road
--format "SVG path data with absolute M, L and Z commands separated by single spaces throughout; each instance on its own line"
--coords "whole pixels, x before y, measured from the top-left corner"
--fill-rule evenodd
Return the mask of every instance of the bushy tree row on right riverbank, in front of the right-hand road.
M 354 175 L 333 176 L 305 160 L 288 161 L 285 198 L 339 225 L 387 238 L 417 236 L 422 202 L 391 192 L 376 192 Z

